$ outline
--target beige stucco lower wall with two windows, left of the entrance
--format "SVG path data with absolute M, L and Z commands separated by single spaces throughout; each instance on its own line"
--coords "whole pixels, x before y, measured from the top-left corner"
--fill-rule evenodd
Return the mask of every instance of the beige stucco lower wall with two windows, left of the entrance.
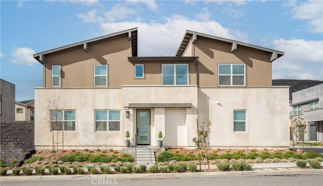
M 76 131 L 64 133 L 64 148 L 109 149 L 124 144 L 121 131 L 95 132 L 94 110 L 121 110 L 121 89 L 93 88 L 93 89 L 35 89 L 35 148 L 51 149 L 52 133 L 49 129 L 48 100 L 59 95 L 58 109 L 76 110 Z M 125 118 L 121 112 L 121 120 Z M 61 133 L 60 133 L 61 135 Z M 61 140 L 59 138 L 59 142 Z M 56 136 L 55 136 L 56 141 Z

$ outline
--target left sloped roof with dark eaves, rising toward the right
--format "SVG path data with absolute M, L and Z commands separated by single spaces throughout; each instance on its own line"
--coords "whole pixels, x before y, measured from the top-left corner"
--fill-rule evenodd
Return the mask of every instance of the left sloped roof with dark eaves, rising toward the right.
M 111 37 L 115 37 L 115 36 L 126 34 L 126 33 L 128 33 L 129 40 L 131 40 L 132 56 L 137 56 L 138 55 L 138 28 L 132 28 L 132 29 L 128 29 L 128 30 L 124 30 L 124 31 L 120 31 L 120 32 L 116 32 L 116 33 L 96 37 L 96 38 L 93 38 L 93 39 L 88 39 L 88 40 L 85 40 L 85 41 L 80 41 L 80 42 L 77 42 L 77 43 L 69 44 L 69 45 L 66 45 L 66 46 L 59 47 L 59 48 L 55 48 L 55 49 L 35 53 L 35 54 L 33 54 L 33 57 L 36 60 L 38 60 L 41 64 L 43 64 L 44 60 L 45 60 L 45 56 L 44 56 L 45 54 L 52 53 L 52 52 L 57 52 L 57 51 L 60 51 L 60 50 L 64 50 L 64 49 L 68 49 L 68 48 L 72 48 L 72 47 L 80 46 L 80 45 L 83 45 L 83 49 L 85 51 L 87 51 L 87 49 L 88 49 L 87 44 L 90 43 L 90 42 L 103 40 L 103 39 L 106 39 L 106 38 L 111 38 Z

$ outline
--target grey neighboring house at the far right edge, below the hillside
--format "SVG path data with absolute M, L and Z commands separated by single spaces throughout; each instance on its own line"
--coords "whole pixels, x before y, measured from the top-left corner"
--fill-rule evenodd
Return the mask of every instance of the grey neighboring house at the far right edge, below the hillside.
M 293 92 L 293 119 L 305 121 L 305 141 L 323 141 L 323 83 Z M 297 140 L 297 139 L 295 139 Z

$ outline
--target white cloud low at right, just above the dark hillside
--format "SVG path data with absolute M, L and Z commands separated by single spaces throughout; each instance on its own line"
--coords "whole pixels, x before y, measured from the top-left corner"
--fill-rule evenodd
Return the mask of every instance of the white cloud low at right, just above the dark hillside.
M 285 52 L 273 63 L 273 79 L 323 80 L 323 41 L 276 39 L 273 45 Z

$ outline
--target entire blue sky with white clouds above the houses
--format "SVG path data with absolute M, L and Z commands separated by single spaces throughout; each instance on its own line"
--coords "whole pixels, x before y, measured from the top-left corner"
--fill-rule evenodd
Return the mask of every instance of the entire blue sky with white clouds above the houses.
M 138 27 L 138 56 L 175 56 L 186 30 L 285 52 L 273 79 L 323 80 L 323 1 L 0 1 L 0 78 L 34 99 L 32 55 Z

